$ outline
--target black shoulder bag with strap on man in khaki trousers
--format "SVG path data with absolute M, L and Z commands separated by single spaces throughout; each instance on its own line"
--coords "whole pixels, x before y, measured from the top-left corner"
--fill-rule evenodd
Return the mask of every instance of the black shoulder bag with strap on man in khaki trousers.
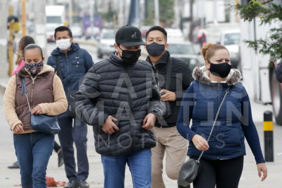
M 168 63 L 167 63 L 167 69 L 166 69 L 166 80 L 165 80 L 165 89 L 166 90 L 169 90 L 170 79 L 171 79 L 171 67 L 172 67 L 172 58 L 169 57 Z M 159 87 L 159 80 L 158 80 L 158 87 Z M 162 110 L 163 118 L 168 118 L 172 115 L 172 110 L 171 110 L 169 101 L 160 101 L 160 109 Z

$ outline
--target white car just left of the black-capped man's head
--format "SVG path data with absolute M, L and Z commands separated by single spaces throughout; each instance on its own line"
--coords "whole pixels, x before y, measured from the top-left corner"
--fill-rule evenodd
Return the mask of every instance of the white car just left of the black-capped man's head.
M 102 29 L 98 45 L 97 56 L 103 58 L 103 55 L 110 55 L 112 51 L 115 51 L 115 32 L 112 29 Z

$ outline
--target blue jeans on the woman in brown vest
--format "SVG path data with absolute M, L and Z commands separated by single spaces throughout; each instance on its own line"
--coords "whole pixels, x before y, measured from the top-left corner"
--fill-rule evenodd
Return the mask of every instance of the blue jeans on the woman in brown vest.
M 53 152 L 54 135 L 14 134 L 22 188 L 46 188 L 46 170 Z

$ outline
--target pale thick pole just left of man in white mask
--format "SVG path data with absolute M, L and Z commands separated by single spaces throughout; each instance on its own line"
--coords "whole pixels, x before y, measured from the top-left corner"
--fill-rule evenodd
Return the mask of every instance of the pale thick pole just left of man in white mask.
M 35 42 L 42 50 L 44 56 L 47 58 L 47 38 L 46 38 L 46 1 L 35 0 L 34 12 L 35 12 Z

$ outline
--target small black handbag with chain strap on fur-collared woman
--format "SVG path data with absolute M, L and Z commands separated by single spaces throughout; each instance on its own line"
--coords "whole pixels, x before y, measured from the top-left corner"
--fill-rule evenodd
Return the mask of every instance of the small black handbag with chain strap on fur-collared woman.
M 220 111 L 220 108 L 226 98 L 226 95 L 227 93 L 229 92 L 229 88 L 230 86 L 226 89 L 225 91 L 225 95 L 218 107 L 218 110 L 217 110 L 217 113 L 216 113 L 216 116 L 215 116 L 215 119 L 214 119 L 214 122 L 213 122 L 213 125 L 212 125 L 212 130 L 211 130 L 211 133 L 210 133 L 210 136 L 208 138 L 208 142 L 210 140 L 210 137 L 212 136 L 212 131 L 214 129 L 214 126 L 215 126 L 215 123 L 216 123 L 216 120 L 217 120 L 217 117 L 219 115 L 219 111 Z M 179 174 L 178 174 L 178 179 L 177 179 L 177 183 L 178 185 L 180 186 L 189 186 L 191 183 L 194 182 L 194 180 L 196 179 L 196 177 L 198 176 L 198 174 L 200 173 L 200 169 L 201 169 L 201 165 L 200 165 L 200 159 L 202 157 L 202 155 L 204 154 L 204 150 L 202 151 L 202 153 L 200 154 L 198 160 L 195 160 L 195 159 L 188 159 L 186 160 L 182 166 L 181 166 L 181 169 L 179 171 Z

